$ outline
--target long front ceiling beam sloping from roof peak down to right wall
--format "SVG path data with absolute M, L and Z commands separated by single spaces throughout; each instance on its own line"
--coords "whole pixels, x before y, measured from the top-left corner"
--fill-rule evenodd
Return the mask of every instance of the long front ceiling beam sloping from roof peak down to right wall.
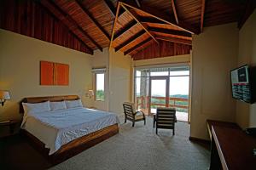
M 184 21 L 179 21 L 178 25 L 175 23 L 176 21 L 172 19 L 171 16 L 163 14 L 163 12 L 156 10 L 155 8 L 150 8 L 148 6 L 142 5 L 141 8 L 135 7 L 132 3 L 129 1 L 125 0 L 120 0 L 119 3 L 122 3 L 123 6 L 129 7 L 136 9 L 138 11 L 144 12 L 158 20 L 161 20 L 163 22 L 166 22 L 167 24 L 170 24 L 172 26 L 176 26 L 184 31 L 188 31 L 189 33 L 192 34 L 199 34 L 200 30 L 195 28 L 194 26 L 191 26 L 190 24 L 184 22 Z

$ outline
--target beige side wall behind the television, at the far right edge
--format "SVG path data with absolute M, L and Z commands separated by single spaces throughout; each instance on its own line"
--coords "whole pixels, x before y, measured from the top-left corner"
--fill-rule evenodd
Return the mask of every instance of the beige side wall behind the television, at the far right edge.
M 256 66 L 256 10 L 239 31 L 237 66 Z M 255 78 L 255 77 L 254 77 Z M 242 127 L 256 127 L 256 104 L 236 101 L 236 122 Z

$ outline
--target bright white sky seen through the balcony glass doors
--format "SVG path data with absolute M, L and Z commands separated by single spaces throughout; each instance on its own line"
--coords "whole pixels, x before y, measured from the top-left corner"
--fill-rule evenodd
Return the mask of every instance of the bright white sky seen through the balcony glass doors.
M 171 71 L 170 75 L 178 76 L 188 74 L 188 71 Z M 157 73 L 159 76 L 164 74 Z M 153 76 L 153 74 L 151 74 Z M 156 76 L 156 73 L 154 74 Z M 166 76 L 166 75 L 165 75 Z M 140 78 L 137 78 L 137 94 L 140 93 Z M 170 77 L 169 94 L 189 94 L 189 76 L 188 77 Z M 152 80 L 152 95 L 166 96 L 166 80 Z

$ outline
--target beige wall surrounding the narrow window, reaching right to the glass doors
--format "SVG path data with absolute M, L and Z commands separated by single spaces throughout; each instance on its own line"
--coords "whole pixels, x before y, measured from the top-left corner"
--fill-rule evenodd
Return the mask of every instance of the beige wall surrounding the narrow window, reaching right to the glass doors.
M 103 53 L 96 50 L 92 59 L 92 67 L 106 67 L 105 75 L 105 100 L 94 101 L 96 109 L 112 111 L 119 115 L 123 114 L 122 104 L 131 101 L 132 68 L 131 56 L 113 49 L 104 48 Z M 93 79 L 94 79 L 93 75 Z M 94 86 L 95 86 L 95 81 Z

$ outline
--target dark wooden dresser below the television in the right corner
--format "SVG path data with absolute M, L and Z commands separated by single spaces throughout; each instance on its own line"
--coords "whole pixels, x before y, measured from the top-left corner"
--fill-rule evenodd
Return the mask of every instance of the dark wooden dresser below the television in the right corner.
M 210 170 L 256 169 L 256 138 L 232 122 L 207 120 L 207 127 L 212 140 Z

